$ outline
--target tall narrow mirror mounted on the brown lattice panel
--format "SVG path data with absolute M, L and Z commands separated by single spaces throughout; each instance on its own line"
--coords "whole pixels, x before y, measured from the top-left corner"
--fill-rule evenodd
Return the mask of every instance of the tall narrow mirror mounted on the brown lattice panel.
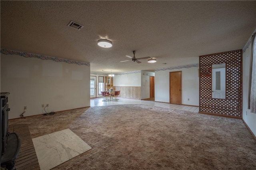
M 226 98 L 226 64 L 212 64 L 212 98 Z

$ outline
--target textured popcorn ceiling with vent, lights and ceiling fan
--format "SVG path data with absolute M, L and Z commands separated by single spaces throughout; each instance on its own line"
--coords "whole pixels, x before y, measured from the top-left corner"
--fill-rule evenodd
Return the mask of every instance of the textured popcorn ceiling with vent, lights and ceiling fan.
M 256 1 L 1 1 L 1 48 L 91 63 L 91 72 L 154 70 L 242 49 Z M 70 21 L 84 25 L 78 31 Z M 100 38 L 111 48 L 97 45 Z M 156 57 L 156 63 L 125 55 Z M 163 64 L 166 63 L 166 64 Z

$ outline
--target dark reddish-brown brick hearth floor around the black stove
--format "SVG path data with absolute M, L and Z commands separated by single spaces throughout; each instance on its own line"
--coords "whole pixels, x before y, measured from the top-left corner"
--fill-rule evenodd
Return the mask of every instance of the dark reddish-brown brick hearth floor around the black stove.
M 36 150 L 27 124 L 14 124 L 9 126 L 9 132 L 15 132 L 20 137 L 20 153 L 16 159 L 17 170 L 40 170 Z

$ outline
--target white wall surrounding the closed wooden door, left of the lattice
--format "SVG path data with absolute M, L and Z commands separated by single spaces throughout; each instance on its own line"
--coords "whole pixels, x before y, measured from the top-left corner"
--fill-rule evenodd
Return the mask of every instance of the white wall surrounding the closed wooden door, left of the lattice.
M 170 102 L 169 72 L 174 71 L 182 71 L 182 104 L 199 106 L 198 67 L 155 71 L 155 101 Z

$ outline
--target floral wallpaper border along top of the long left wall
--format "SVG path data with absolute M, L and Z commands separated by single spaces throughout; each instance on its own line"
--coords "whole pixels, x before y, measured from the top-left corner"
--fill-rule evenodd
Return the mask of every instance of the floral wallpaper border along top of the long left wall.
M 34 54 L 34 53 L 27 53 L 23 51 L 15 51 L 15 50 L 10 50 L 10 49 L 4 49 L 1 48 L 0 53 L 5 54 L 5 55 L 19 55 L 22 57 L 26 58 L 37 58 L 41 60 L 52 60 L 56 62 L 64 62 L 68 64 L 78 64 L 78 65 L 86 65 L 90 66 L 90 63 L 82 62 L 82 61 L 74 61 L 74 60 L 69 60 L 69 59 L 62 59 L 58 57 L 51 57 L 47 55 L 39 55 L 39 54 Z

